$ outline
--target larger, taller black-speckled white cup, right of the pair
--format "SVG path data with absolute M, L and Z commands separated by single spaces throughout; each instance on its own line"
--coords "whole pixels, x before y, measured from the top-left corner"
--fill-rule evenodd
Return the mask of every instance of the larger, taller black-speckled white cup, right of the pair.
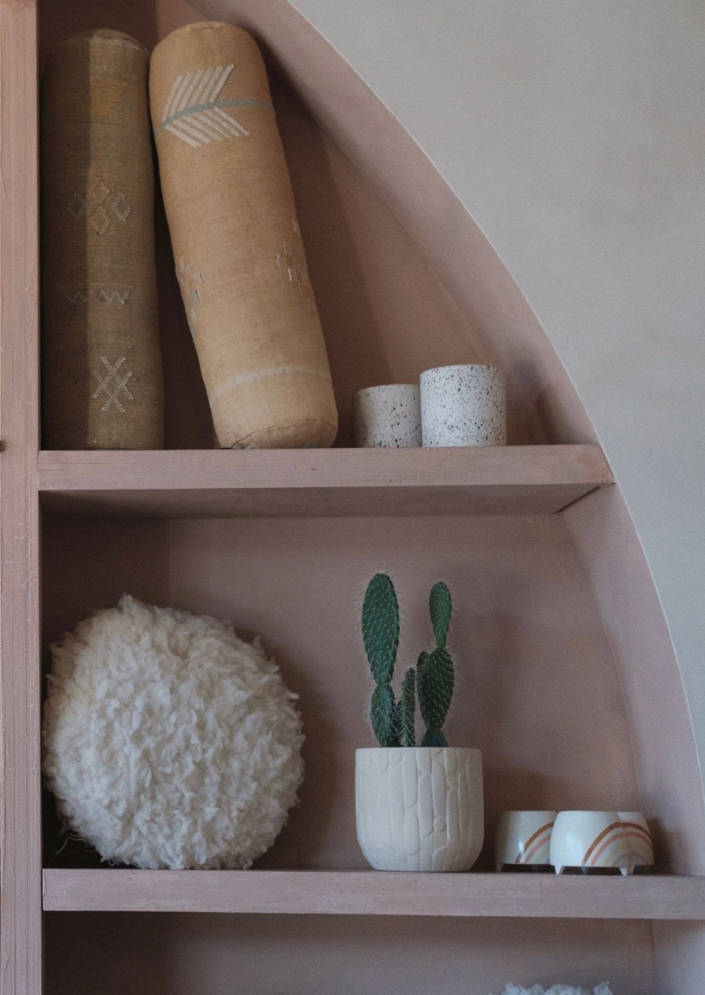
M 507 395 L 499 366 L 437 366 L 421 374 L 424 446 L 506 446 Z

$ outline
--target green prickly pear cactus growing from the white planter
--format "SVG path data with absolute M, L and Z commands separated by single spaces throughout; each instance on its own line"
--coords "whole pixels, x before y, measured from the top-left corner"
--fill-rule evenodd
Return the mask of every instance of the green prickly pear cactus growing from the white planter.
M 422 653 L 410 667 L 395 700 L 391 681 L 399 647 L 399 605 L 390 578 L 375 574 L 367 585 L 362 604 L 362 641 L 374 680 L 370 706 L 372 729 L 380 746 L 415 746 L 416 697 L 426 731 L 422 746 L 447 746 L 443 734 L 453 697 L 453 661 L 446 649 L 452 602 L 447 586 L 439 581 L 429 597 L 435 648 Z

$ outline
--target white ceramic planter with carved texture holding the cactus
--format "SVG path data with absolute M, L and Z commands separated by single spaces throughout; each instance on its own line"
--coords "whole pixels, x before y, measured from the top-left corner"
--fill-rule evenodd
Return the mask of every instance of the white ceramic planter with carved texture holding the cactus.
M 485 832 L 480 751 L 358 749 L 355 805 L 357 842 L 376 871 L 469 871 Z

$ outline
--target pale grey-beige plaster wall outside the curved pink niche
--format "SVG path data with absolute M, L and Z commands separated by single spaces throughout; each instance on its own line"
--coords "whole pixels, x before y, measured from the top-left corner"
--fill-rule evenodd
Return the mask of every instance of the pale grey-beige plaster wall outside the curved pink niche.
M 653 571 L 705 757 L 701 0 L 294 0 L 536 309 Z

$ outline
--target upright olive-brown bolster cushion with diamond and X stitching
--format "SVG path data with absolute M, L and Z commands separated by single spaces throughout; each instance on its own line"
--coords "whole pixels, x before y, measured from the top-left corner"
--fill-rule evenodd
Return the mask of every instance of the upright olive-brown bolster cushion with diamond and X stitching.
M 50 449 L 159 449 L 154 176 L 145 50 L 54 51 L 42 113 L 42 384 Z

